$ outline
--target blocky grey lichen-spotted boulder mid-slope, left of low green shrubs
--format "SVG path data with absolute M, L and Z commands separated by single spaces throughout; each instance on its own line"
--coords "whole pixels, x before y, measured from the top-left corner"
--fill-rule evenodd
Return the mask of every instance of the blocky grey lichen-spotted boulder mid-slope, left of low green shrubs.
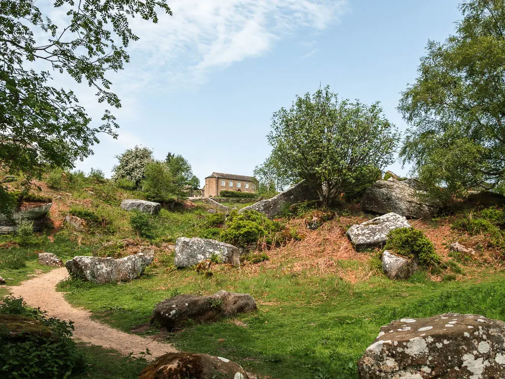
M 240 265 L 240 249 L 224 242 L 181 237 L 175 241 L 175 265 L 190 267 L 215 256 L 223 263 Z

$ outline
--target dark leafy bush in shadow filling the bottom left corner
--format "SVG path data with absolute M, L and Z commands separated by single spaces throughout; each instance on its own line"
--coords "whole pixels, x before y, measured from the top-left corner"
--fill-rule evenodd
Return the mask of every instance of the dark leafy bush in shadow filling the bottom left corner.
M 72 340 L 72 322 L 57 318 L 46 318 L 40 310 L 28 308 L 22 298 L 5 297 L 0 302 L 0 314 L 7 322 L 0 330 L 0 377 L 5 379 L 21 378 L 70 378 L 78 370 L 84 368 L 84 361 Z M 31 329 L 40 328 L 44 333 L 30 333 L 23 338 L 13 339 L 9 333 L 9 325 L 28 317 L 34 321 Z M 16 325 L 19 325 L 17 323 Z M 19 326 L 16 326 L 19 327 Z M 6 330 L 7 329 L 7 330 Z M 44 337 L 45 330 L 51 337 Z

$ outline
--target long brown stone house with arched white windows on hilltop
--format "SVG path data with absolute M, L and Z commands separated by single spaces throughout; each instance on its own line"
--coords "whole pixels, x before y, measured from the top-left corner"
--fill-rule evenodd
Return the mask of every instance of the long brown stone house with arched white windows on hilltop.
M 221 191 L 236 192 L 256 192 L 256 179 L 252 176 L 223 174 L 213 172 L 205 178 L 205 185 L 202 189 L 205 198 L 216 197 Z

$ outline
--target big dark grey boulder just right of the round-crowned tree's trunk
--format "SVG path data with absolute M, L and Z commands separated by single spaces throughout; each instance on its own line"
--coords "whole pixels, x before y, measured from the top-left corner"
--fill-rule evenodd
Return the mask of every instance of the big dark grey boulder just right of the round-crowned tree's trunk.
M 426 194 L 415 179 L 378 180 L 365 190 L 361 207 L 380 214 L 395 212 L 409 218 L 431 218 L 438 208 L 422 199 Z

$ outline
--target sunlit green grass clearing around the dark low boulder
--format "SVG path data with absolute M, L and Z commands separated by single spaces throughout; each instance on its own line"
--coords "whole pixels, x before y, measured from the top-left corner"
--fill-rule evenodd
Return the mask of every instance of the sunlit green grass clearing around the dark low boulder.
M 250 293 L 256 313 L 240 315 L 247 327 L 228 320 L 197 325 L 172 334 L 169 342 L 184 351 L 232 359 L 247 370 L 272 378 L 357 378 L 356 362 L 381 325 L 401 317 L 428 317 L 444 312 L 480 313 L 505 320 L 505 274 L 481 283 L 432 282 L 426 275 L 411 281 L 374 276 L 351 285 L 338 276 L 315 272 L 285 274 L 279 267 L 249 276 L 238 269 L 215 270 L 211 279 L 173 266 L 173 256 L 137 280 L 96 286 L 81 281 L 60 285 L 75 306 L 129 331 L 145 323 L 154 306 L 176 293 L 209 294 L 224 289 Z M 351 261 L 341 266 L 352 267 Z

